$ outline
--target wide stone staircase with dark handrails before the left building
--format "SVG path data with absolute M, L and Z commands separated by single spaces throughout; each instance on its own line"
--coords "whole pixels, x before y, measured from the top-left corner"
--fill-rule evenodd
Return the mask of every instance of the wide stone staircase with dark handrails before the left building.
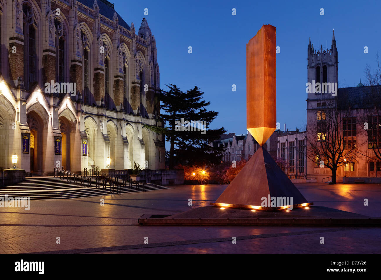
M 139 189 L 137 184 L 129 184 L 121 186 L 120 192 L 122 194 L 130 192 L 142 191 L 142 186 Z M 146 191 L 168 189 L 167 187 L 158 186 L 155 184 L 146 184 Z M 78 198 L 78 197 L 91 197 L 96 195 L 110 195 L 117 194 L 117 187 L 114 187 L 114 192 L 111 191 L 110 186 L 106 189 L 96 187 L 83 187 L 73 182 L 67 182 L 58 177 L 27 177 L 24 181 L 15 184 L 14 186 L 0 187 L 0 197 L 30 197 L 32 200 L 37 199 L 65 199 L 65 198 Z

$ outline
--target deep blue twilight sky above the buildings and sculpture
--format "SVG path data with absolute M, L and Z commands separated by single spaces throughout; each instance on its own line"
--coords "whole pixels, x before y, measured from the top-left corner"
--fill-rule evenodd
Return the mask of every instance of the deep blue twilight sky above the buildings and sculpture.
M 157 42 L 160 86 L 183 91 L 199 86 L 210 110 L 211 128 L 246 133 L 246 43 L 263 24 L 277 28 L 277 121 L 295 130 L 306 124 L 307 45 L 330 48 L 335 29 L 339 87 L 365 80 L 366 64 L 381 54 L 379 1 L 122 1 L 115 10 L 139 29 L 147 19 Z M 292 2 L 292 3 L 290 3 Z M 148 8 L 148 16 L 144 16 Z M 232 8 L 237 15 L 232 15 Z M 320 16 L 324 8 L 324 16 Z M 192 46 L 193 53 L 188 53 Z M 368 54 L 364 54 L 368 46 Z M 232 92 L 232 85 L 237 91 Z

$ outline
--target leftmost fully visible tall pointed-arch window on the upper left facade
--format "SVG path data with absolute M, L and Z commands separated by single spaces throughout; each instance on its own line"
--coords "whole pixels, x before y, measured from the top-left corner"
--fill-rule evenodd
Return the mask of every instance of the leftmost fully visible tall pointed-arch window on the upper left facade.
M 36 24 L 32 8 L 22 5 L 24 26 L 24 85 L 27 90 L 37 79 Z

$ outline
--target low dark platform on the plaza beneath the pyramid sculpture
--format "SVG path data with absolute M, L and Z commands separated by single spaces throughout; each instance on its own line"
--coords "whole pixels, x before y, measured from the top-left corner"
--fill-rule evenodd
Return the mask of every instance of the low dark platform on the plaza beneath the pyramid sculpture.
M 381 218 L 323 206 L 292 211 L 256 211 L 216 206 L 197 207 L 174 215 L 145 214 L 143 226 L 371 226 L 381 227 Z

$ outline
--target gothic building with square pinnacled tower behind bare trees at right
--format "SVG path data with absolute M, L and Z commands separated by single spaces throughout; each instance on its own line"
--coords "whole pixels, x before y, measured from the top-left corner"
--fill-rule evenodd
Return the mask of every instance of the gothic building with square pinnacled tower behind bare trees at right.
M 307 82 L 338 82 L 338 51 L 336 48 L 335 33 L 333 32 L 331 48 L 323 50 L 320 46 L 320 50 L 314 50 L 314 46 L 311 45 L 311 40 L 307 50 Z M 344 100 L 349 105 L 345 119 L 341 118 L 339 128 L 343 138 L 344 149 L 353 149 L 358 152 L 358 157 L 351 162 L 346 162 L 345 166 L 339 166 L 336 174 L 336 180 L 342 181 L 344 176 L 346 177 L 381 177 L 381 162 L 375 156 L 371 144 L 368 141 L 367 133 L 364 133 L 364 121 L 363 117 L 365 110 L 373 108 L 373 105 L 368 104 L 367 94 L 370 91 L 370 86 L 363 86 L 361 81 L 355 87 L 338 88 L 336 92 L 338 102 Z M 307 137 L 315 137 L 315 139 L 324 139 L 325 131 L 317 132 L 310 130 L 310 127 L 316 127 L 317 122 L 325 122 L 325 108 L 327 108 L 328 102 L 334 97 L 332 93 L 308 93 L 307 97 Z M 328 106 L 329 107 L 329 106 Z M 343 114 L 341 114 L 343 116 Z M 381 135 L 381 118 L 373 117 L 369 126 L 376 128 L 375 135 Z M 311 135 L 316 133 L 317 135 Z M 381 138 L 380 138 L 381 139 Z M 380 140 L 378 140 L 380 141 Z M 319 166 L 319 160 L 317 155 L 311 154 L 309 149 L 309 143 L 307 143 L 307 176 L 316 177 L 318 182 L 322 182 L 323 178 L 331 176 L 331 170 L 327 167 L 321 168 Z M 312 160 L 314 158 L 315 160 Z M 344 169 L 345 168 L 345 169 Z M 328 179 L 325 179 L 327 181 Z

